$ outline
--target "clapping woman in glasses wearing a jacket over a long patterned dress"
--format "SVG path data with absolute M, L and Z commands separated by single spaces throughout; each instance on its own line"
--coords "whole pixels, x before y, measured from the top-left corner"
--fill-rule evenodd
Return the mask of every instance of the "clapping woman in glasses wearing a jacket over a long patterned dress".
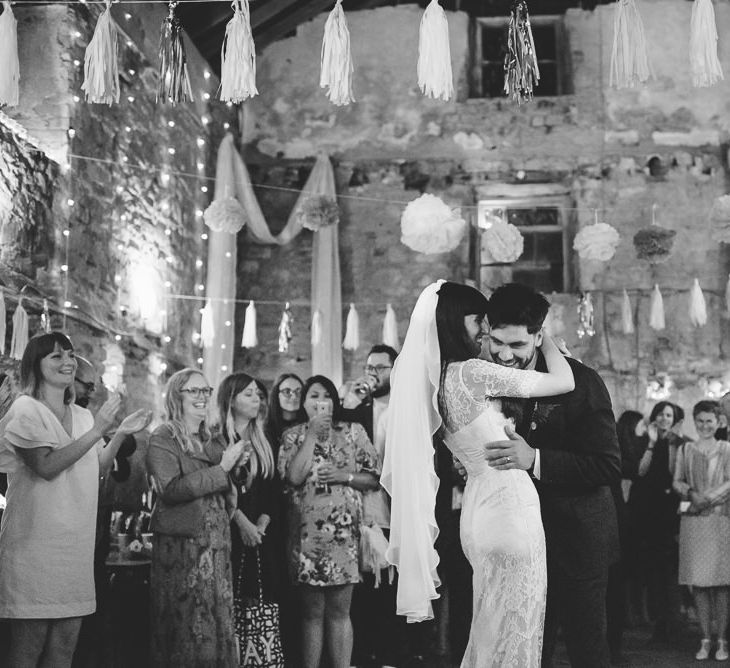
M 238 666 L 225 496 L 229 473 L 245 455 L 241 440 L 211 439 L 205 418 L 212 391 L 197 369 L 173 374 L 167 420 L 150 437 L 154 668 Z

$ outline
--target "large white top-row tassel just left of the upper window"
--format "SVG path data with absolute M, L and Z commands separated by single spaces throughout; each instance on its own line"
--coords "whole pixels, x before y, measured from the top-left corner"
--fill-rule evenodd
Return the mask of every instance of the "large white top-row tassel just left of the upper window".
M 438 0 L 421 17 L 418 35 L 418 86 L 427 97 L 447 102 L 454 94 L 449 48 L 449 22 Z

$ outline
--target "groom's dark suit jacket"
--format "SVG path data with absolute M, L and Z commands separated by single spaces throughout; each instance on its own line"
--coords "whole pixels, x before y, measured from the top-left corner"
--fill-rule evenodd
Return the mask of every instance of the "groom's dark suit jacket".
M 601 377 L 567 358 L 575 389 L 528 400 L 520 435 L 540 449 L 540 495 L 548 563 L 570 578 L 605 573 L 619 556 L 610 486 L 621 478 L 611 398 Z M 542 355 L 537 370 L 545 371 Z

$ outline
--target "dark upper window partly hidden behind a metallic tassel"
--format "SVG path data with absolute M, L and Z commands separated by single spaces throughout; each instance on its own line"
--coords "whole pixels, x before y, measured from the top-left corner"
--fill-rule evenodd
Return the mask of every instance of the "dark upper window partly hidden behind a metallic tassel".
M 473 23 L 473 67 L 470 97 L 504 97 L 504 57 L 507 53 L 506 17 L 478 17 Z M 569 95 L 567 36 L 560 16 L 531 16 L 540 82 L 535 97 Z

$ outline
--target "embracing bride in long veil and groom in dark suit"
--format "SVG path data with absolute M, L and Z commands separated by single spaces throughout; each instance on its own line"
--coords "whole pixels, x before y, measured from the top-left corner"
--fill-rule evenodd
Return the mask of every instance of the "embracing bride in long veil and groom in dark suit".
M 474 600 L 462 668 L 546 668 L 558 627 L 573 666 L 609 665 L 605 593 L 618 556 L 609 486 L 621 464 L 614 416 L 598 374 L 543 333 L 548 309 L 519 284 L 487 300 L 467 285 L 434 283 L 416 303 L 391 376 L 381 481 L 392 497 L 398 613 L 409 621 L 432 617 L 440 584 L 437 431 L 467 471 L 461 541 Z

